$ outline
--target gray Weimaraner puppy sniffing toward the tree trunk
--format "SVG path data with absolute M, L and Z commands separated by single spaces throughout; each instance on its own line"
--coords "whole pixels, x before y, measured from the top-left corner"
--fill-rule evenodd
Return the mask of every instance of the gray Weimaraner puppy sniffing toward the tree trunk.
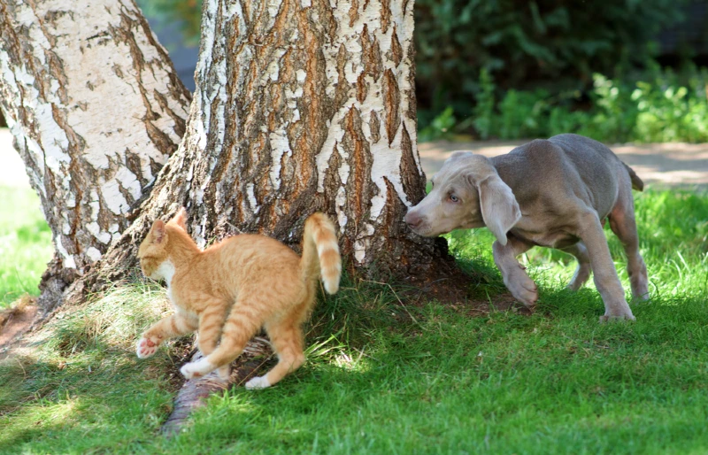
M 516 257 L 535 245 L 546 246 L 578 259 L 570 289 L 579 289 L 593 272 L 604 301 L 601 321 L 635 319 L 604 237 L 605 219 L 627 253 L 632 293 L 649 297 L 632 198 L 632 189 L 642 190 L 643 181 L 602 143 L 555 135 L 495 158 L 456 151 L 432 182 L 433 189 L 409 209 L 405 222 L 427 237 L 489 228 L 496 237 L 496 266 L 522 304 L 535 305 L 538 291 Z

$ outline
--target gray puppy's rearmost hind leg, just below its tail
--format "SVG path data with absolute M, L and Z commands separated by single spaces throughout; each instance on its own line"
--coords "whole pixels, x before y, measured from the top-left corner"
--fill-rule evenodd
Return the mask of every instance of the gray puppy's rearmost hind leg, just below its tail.
M 628 194 L 626 194 L 628 193 Z M 632 286 L 632 295 L 641 300 L 649 299 L 649 279 L 647 266 L 639 253 L 639 236 L 636 233 L 635 203 L 632 190 L 620 188 L 620 197 L 610 212 L 610 228 L 620 239 L 627 254 L 627 274 Z

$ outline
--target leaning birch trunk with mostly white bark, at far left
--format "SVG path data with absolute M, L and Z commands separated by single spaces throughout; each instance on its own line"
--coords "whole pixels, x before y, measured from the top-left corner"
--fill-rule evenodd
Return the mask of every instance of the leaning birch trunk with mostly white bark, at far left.
M 45 310 L 127 228 L 189 100 L 133 0 L 0 0 L 0 107 L 56 246 Z

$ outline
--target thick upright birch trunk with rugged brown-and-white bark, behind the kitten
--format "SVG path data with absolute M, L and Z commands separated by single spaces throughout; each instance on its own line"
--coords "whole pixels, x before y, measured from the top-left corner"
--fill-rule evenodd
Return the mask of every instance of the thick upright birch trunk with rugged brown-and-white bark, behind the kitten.
M 435 243 L 403 223 L 425 191 L 412 7 L 205 1 L 185 140 L 119 245 L 119 262 L 150 220 L 184 204 L 202 245 L 235 231 L 296 244 L 304 219 L 324 211 L 354 266 L 396 274 L 430 266 L 441 255 Z

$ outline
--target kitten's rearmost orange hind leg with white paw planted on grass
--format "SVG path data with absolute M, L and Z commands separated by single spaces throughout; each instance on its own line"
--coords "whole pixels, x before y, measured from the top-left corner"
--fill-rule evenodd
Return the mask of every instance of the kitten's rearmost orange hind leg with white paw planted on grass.
M 246 382 L 246 389 L 266 389 L 304 364 L 303 331 L 299 318 L 266 323 L 266 332 L 278 354 L 278 364 L 263 376 Z

